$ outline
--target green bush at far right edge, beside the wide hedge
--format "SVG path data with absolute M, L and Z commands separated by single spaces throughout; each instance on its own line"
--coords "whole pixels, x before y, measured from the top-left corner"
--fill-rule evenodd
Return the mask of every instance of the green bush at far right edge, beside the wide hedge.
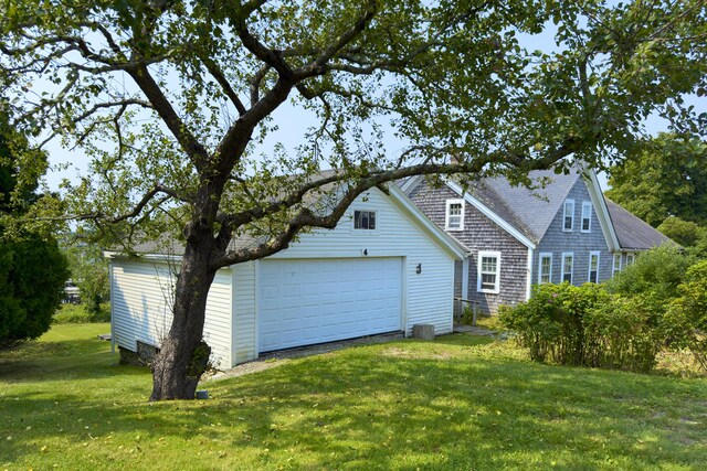
M 707 260 L 692 266 L 677 290 L 664 321 L 668 339 L 676 349 L 688 347 L 707 371 Z

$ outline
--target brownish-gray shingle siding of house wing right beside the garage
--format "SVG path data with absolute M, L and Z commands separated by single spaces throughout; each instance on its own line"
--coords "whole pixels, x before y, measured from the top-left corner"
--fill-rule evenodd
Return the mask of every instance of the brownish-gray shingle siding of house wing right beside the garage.
M 446 185 L 432 189 L 421 182 L 411 193 L 411 200 L 436 225 L 444 228 L 446 201 L 460 196 Z M 447 231 L 469 250 L 468 298 L 477 301 L 481 311 L 496 313 L 500 304 L 515 306 L 525 301 L 527 290 L 528 249 L 515 237 L 502 229 L 473 205 L 464 204 L 464 231 Z M 477 291 L 478 251 L 500 251 L 499 292 Z M 454 296 L 462 296 L 462 270 L 457 263 Z M 456 303 L 458 304 L 458 303 Z M 456 313 L 458 314 L 458 307 Z

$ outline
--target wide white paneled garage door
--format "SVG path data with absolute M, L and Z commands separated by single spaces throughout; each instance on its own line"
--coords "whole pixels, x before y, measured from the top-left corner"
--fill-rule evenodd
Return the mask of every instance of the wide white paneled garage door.
M 262 260 L 261 352 L 401 330 L 400 258 Z

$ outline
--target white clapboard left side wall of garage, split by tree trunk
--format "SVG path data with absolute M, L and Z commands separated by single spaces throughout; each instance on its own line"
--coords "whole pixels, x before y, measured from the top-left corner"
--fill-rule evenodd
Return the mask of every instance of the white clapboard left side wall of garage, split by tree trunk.
M 137 342 L 159 346 L 171 324 L 173 276 L 169 265 L 150 261 L 112 260 L 110 290 L 113 338 L 133 352 Z M 232 275 L 220 270 L 207 301 L 204 340 L 212 349 L 212 362 L 231 366 Z

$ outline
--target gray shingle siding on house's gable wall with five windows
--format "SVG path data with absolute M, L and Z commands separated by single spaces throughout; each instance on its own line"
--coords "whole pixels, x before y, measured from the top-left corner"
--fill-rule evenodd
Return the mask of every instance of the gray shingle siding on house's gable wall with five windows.
M 599 281 L 611 278 L 612 254 L 609 251 L 606 239 L 597 217 L 597 210 L 592 205 L 591 232 L 581 232 L 582 202 L 591 201 L 587 184 L 578 179 L 567 195 L 574 200 L 574 224 L 572 232 L 563 232 L 564 204 L 560 205 L 552 223 L 532 256 L 532 283 L 538 282 L 538 269 L 541 253 L 552 254 L 552 282 L 562 281 L 562 254 L 573 253 L 572 283 L 582 285 L 589 280 L 590 251 L 599 250 Z

